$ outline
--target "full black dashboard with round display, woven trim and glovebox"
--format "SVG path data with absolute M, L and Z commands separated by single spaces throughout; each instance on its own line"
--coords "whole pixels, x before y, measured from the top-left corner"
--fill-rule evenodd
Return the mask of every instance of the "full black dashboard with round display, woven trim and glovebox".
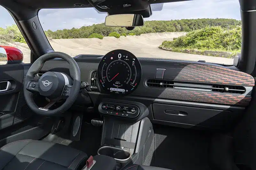
M 226 129 L 244 113 L 255 84 L 251 75 L 225 66 L 137 58 L 126 50 L 75 60 L 81 81 L 90 86 L 74 109 L 93 106 L 100 114 L 127 121 L 147 116 L 170 126 Z M 41 70 L 69 74 L 68 68 L 67 62 L 54 59 Z

